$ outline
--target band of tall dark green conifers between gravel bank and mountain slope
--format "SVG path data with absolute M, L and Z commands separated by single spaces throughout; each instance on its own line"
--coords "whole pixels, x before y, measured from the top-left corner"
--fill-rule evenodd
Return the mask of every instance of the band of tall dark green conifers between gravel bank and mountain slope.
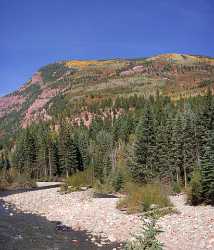
M 178 102 L 157 94 L 149 99 L 107 100 L 107 104 L 125 106 L 126 112 L 119 118 L 97 115 L 89 128 L 83 123 L 73 126 L 64 118 L 57 125 L 43 123 L 20 131 L 15 145 L 2 150 L 0 168 L 7 158 L 7 168 L 37 179 L 92 168 L 101 183 L 117 175 L 121 179 L 125 169 L 140 183 L 157 179 L 185 187 L 197 171 L 200 200 L 213 202 L 214 98 L 210 91 Z

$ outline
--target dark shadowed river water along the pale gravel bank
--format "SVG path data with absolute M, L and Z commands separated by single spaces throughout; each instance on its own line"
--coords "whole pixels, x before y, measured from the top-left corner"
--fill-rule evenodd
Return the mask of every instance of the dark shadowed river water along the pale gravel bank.
M 84 231 L 73 231 L 60 222 L 16 211 L 1 200 L 0 194 L 0 250 L 112 250 L 118 243 L 106 242 L 97 246 Z M 96 239 L 100 243 L 100 239 Z

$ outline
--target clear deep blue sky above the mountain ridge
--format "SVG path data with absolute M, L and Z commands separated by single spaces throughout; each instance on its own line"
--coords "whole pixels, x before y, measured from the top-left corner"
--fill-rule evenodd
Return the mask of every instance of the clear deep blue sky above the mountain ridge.
M 214 0 L 0 0 L 0 96 L 62 59 L 214 56 Z

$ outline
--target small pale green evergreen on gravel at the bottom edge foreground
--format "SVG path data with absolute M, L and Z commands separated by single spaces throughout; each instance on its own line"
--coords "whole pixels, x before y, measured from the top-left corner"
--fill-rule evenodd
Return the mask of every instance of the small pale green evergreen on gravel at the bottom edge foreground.
M 128 241 L 124 250 L 162 250 L 163 245 L 156 239 L 160 232 L 155 220 L 144 220 L 142 233 Z

